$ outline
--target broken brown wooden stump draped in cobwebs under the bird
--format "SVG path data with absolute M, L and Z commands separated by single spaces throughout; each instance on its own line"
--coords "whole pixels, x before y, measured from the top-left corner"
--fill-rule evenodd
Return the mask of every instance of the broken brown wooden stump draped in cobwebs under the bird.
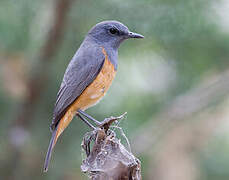
M 126 113 L 125 113 L 126 114 Z M 82 148 L 87 158 L 83 160 L 81 170 L 89 174 L 92 180 L 140 180 L 141 164 L 134 155 L 127 151 L 110 130 L 111 124 L 122 119 L 119 117 L 106 118 L 100 128 L 87 133 L 82 142 Z M 94 142 L 92 151 L 90 144 Z

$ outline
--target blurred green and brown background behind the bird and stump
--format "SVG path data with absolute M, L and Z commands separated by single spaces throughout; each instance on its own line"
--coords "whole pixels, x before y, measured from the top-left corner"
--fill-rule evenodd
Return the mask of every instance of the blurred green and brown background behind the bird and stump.
M 1 0 L 0 179 L 87 179 L 78 119 L 42 173 L 67 64 L 87 31 L 118 20 L 145 36 L 119 50 L 116 79 L 87 112 L 121 122 L 143 179 L 229 179 L 229 3 L 226 0 Z M 125 144 L 125 141 L 123 141 Z

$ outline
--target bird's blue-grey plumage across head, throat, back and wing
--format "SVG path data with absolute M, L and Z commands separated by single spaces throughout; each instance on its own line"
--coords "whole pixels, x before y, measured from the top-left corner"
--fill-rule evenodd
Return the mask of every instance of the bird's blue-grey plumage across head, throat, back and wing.
M 112 34 L 110 32 L 112 28 L 117 30 L 117 33 Z M 128 28 L 118 21 L 103 21 L 91 28 L 64 74 L 54 107 L 52 130 L 66 113 L 67 108 L 99 74 L 105 59 L 102 48 L 106 50 L 108 59 L 117 70 L 118 47 L 125 39 L 131 37 L 142 36 L 129 32 Z

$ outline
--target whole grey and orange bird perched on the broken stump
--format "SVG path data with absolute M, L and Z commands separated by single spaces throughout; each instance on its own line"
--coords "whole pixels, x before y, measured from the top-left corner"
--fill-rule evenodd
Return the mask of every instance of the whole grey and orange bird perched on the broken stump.
M 78 116 L 89 127 L 94 128 L 85 117 L 99 121 L 88 115 L 85 110 L 97 104 L 109 89 L 118 68 L 118 48 L 130 38 L 144 38 L 143 35 L 129 31 L 118 21 L 102 21 L 93 26 L 65 71 L 63 81 L 57 93 L 50 126 L 52 137 L 44 163 L 44 172 L 57 139 Z

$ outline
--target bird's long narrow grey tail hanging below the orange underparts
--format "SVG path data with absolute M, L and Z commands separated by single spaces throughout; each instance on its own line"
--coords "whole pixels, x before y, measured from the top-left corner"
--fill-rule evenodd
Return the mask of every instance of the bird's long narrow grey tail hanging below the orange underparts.
M 49 162 L 50 162 L 50 159 L 51 159 L 52 151 L 53 151 L 53 148 L 54 148 L 54 146 L 56 144 L 57 130 L 58 130 L 57 127 L 53 131 L 52 138 L 51 138 L 50 143 L 49 143 L 48 151 L 47 151 L 46 158 L 45 158 L 44 172 L 47 172 L 48 171 L 48 166 L 49 166 Z

